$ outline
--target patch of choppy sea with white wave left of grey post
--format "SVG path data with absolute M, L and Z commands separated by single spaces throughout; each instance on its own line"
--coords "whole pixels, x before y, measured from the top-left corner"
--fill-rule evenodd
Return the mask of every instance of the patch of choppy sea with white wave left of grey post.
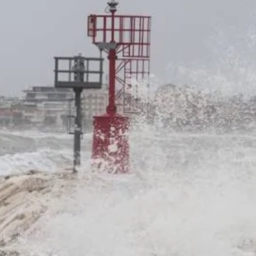
M 72 166 L 72 137 L 43 132 L 0 132 L 0 175 L 56 172 Z

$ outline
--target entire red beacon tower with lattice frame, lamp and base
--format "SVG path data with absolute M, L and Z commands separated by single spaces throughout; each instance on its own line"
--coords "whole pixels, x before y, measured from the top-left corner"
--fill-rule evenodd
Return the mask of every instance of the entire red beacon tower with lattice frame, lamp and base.
M 106 115 L 94 117 L 92 158 L 93 163 L 127 172 L 129 119 L 116 113 L 116 101 L 122 100 L 124 113 L 140 113 L 148 100 L 151 17 L 116 15 L 117 6 L 112 0 L 109 15 L 88 16 L 88 36 L 109 60 L 109 104 Z

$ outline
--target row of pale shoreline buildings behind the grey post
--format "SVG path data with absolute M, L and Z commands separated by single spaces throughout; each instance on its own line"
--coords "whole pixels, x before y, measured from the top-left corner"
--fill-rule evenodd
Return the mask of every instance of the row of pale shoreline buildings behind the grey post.
M 74 92 L 69 88 L 33 86 L 19 98 L 0 97 L 0 127 L 55 128 L 66 130 L 76 115 Z M 108 86 L 99 90 L 83 90 L 83 130 L 92 131 L 93 116 L 106 113 Z M 72 121 L 68 122 L 68 118 Z M 74 127 L 73 127 L 74 129 Z M 72 127 L 71 127 L 72 130 Z

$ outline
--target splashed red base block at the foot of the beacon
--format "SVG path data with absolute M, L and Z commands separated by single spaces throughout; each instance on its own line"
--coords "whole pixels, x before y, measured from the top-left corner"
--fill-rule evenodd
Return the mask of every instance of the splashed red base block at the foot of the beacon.
M 111 173 L 129 171 L 129 118 L 122 115 L 94 116 L 93 168 Z

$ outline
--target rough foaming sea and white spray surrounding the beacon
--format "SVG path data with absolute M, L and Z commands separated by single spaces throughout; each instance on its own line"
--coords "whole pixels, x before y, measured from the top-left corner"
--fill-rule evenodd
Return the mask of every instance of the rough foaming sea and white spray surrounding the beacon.
M 256 137 L 143 128 L 130 134 L 127 175 L 90 172 L 91 139 L 74 193 L 21 239 L 31 255 L 256 255 Z M 1 173 L 72 166 L 72 136 L 0 140 Z

